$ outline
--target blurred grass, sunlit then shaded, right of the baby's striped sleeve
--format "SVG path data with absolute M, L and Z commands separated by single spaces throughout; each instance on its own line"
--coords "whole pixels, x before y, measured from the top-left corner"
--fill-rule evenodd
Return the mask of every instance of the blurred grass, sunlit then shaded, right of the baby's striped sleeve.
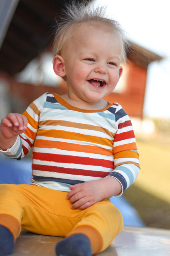
M 147 226 L 170 229 L 170 145 L 137 140 L 141 172 L 124 196 Z

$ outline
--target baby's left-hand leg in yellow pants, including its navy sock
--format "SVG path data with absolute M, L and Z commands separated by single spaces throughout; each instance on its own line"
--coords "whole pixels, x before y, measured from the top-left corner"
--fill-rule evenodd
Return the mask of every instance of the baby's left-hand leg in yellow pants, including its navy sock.
M 36 185 L 1 184 L 0 256 L 12 252 L 21 228 L 52 236 L 65 236 L 69 233 L 74 226 L 69 219 L 69 210 L 73 210 L 66 199 L 67 194 Z

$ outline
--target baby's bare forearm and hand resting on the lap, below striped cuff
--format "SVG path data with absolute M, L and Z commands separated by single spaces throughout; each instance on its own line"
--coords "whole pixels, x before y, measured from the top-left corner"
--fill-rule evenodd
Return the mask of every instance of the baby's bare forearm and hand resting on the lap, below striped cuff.
M 67 195 L 72 209 L 86 209 L 103 199 L 116 196 L 121 193 L 120 182 L 112 177 L 106 176 L 98 181 L 86 181 L 69 187 L 71 191 Z

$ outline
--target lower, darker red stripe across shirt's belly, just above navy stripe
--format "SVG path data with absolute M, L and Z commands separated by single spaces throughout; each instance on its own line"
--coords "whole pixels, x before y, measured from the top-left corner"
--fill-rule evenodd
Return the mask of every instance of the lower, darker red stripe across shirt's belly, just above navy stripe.
M 41 164 L 32 164 L 32 169 L 38 170 L 38 171 L 67 173 L 67 174 L 73 174 L 73 175 L 83 175 L 83 176 L 99 177 L 99 178 L 106 177 L 110 173 L 110 172 L 89 171 L 89 170 L 64 168 L 64 167 L 41 165 Z M 42 173 L 42 176 L 43 176 L 43 173 Z

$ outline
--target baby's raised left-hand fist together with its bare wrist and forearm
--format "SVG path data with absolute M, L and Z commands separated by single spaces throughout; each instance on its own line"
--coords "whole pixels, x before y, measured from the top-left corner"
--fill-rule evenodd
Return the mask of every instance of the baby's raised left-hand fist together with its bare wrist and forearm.
M 27 128 L 27 118 L 21 114 L 10 113 L 1 120 L 0 148 L 6 150 L 15 143 L 17 136 Z

